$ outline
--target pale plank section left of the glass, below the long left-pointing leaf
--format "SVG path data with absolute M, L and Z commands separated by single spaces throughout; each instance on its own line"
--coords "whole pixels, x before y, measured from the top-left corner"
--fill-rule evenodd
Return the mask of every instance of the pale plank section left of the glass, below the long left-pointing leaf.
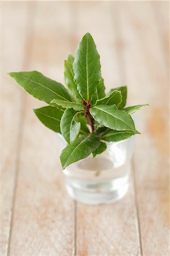
M 10 255 L 72 255 L 74 203 L 64 188 L 56 134 L 42 127 L 28 98 Z

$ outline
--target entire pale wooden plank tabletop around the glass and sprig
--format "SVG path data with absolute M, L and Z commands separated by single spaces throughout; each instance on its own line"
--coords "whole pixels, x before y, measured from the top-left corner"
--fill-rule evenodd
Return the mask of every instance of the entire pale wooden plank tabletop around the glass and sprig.
M 1 256 L 169 255 L 169 3 L 2 2 Z M 138 130 L 120 201 L 75 203 L 43 106 L 6 75 L 38 70 L 63 82 L 63 60 L 90 32 L 107 90 L 128 85 Z

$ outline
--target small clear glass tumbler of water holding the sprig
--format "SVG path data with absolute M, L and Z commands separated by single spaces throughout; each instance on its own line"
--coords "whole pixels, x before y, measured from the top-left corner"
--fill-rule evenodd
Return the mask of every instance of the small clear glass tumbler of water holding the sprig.
M 57 134 L 59 151 L 67 142 Z M 65 185 L 72 199 L 85 204 L 107 204 L 125 196 L 131 171 L 133 136 L 109 142 L 101 155 L 79 160 L 64 171 Z

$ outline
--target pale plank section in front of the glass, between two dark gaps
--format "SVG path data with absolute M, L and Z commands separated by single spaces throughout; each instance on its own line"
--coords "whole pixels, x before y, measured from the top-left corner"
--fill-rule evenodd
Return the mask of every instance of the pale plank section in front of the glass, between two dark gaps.
M 77 204 L 77 255 L 139 255 L 134 195 L 114 204 Z

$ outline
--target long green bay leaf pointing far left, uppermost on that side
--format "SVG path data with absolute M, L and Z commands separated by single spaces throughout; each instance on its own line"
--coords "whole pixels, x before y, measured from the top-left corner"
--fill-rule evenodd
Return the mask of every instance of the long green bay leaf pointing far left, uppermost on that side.
M 71 101 L 67 89 L 54 80 L 45 77 L 38 71 L 9 73 L 16 83 L 40 101 L 48 104 L 55 98 L 58 100 Z

